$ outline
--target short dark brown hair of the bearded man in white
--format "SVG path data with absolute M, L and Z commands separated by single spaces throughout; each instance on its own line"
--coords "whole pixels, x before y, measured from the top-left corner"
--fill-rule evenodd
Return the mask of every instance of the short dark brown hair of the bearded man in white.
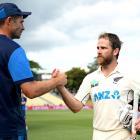
M 99 35 L 99 38 L 108 38 L 111 44 L 112 49 L 116 49 L 119 48 L 119 50 L 121 49 L 121 45 L 122 45 L 122 41 L 120 41 L 119 37 L 116 34 L 113 33 L 102 33 Z M 119 53 L 117 54 L 117 59 L 118 59 Z

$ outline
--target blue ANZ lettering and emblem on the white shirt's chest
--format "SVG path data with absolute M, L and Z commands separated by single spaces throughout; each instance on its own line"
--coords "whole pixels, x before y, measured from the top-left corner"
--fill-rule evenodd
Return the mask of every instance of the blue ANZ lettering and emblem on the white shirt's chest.
M 94 94 L 92 97 L 94 102 L 100 101 L 100 100 L 108 100 L 108 99 L 119 99 L 120 98 L 120 93 L 118 90 L 113 90 L 113 91 L 99 91 Z

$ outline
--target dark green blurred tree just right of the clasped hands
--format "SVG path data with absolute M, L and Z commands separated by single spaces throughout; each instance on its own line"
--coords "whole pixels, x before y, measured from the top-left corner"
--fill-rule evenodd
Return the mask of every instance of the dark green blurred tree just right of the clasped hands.
M 86 72 L 84 69 L 81 68 L 72 68 L 71 70 L 66 72 L 67 77 L 68 77 L 68 83 L 66 87 L 76 93 L 77 90 L 79 89 L 80 84 L 83 81 L 83 78 L 86 76 Z

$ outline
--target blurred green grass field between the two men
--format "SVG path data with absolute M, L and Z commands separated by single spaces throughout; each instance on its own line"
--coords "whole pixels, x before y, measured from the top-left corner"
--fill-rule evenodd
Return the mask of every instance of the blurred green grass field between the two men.
M 92 110 L 27 111 L 27 126 L 29 140 L 92 140 Z

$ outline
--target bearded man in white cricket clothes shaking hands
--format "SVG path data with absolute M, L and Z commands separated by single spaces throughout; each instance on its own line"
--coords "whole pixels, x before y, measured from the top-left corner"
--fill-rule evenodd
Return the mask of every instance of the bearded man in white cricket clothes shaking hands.
M 121 45 L 116 34 L 101 34 L 97 43 L 98 70 L 84 78 L 75 97 L 64 86 L 57 87 L 73 112 L 80 111 L 91 96 L 94 106 L 93 140 L 130 140 L 131 137 L 127 118 L 132 114 L 129 112 L 125 116 L 120 110 L 131 108 L 128 104 L 139 87 L 120 71 L 117 59 Z M 52 75 L 57 76 L 57 72 Z

